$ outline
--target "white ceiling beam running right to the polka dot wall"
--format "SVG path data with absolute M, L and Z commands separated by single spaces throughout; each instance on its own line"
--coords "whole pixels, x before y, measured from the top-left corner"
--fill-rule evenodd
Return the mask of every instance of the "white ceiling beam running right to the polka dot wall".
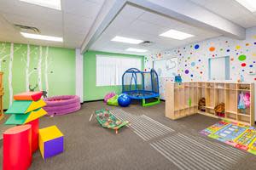
M 207 28 L 207 30 L 217 31 L 224 36 L 240 40 L 246 37 L 245 28 L 189 0 L 129 0 L 129 2 L 182 21 L 190 26 Z

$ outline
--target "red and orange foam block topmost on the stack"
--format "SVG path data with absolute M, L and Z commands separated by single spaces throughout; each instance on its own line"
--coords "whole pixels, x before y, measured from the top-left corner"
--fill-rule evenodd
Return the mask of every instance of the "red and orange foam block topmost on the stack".
M 33 100 L 38 101 L 38 99 L 41 99 L 43 95 L 43 92 L 24 92 L 21 94 L 15 94 L 14 99 L 15 100 Z

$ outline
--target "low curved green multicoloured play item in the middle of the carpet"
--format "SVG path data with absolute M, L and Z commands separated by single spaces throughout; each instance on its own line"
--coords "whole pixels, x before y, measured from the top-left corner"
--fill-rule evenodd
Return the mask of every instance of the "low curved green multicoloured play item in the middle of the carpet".
M 115 130 L 115 133 L 118 133 L 119 128 L 129 124 L 128 121 L 120 121 L 106 109 L 96 111 L 95 114 L 96 120 L 102 125 L 102 127 L 111 128 Z

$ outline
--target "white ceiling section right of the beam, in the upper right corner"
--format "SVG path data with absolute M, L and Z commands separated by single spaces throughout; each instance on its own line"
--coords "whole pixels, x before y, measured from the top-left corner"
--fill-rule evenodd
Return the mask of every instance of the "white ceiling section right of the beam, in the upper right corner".
M 252 13 L 236 0 L 190 0 L 207 10 L 244 28 L 256 26 L 256 12 Z M 255 0 L 256 1 L 256 0 Z

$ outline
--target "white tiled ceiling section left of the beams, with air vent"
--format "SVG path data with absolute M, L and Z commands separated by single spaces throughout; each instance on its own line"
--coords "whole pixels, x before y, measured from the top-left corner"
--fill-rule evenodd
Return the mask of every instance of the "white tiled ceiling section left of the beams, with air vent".
M 78 48 L 103 3 L 104 0 L 61 0 L 59 11 L 19 0 L 0 0 L 0 42 Z M 26 39 L 13 24 L 37 27 L 42 35 L 63 37 L 64 42 Z

